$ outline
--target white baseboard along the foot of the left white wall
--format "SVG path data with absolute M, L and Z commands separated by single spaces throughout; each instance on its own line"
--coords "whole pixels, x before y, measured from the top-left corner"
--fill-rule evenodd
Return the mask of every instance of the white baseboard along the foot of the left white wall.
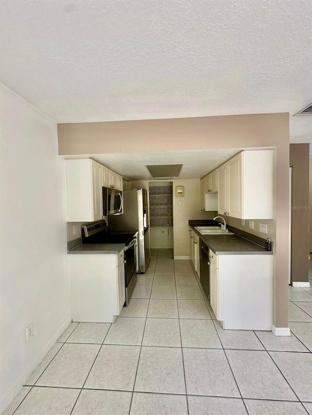
M 13 387 L 11 387 L 4 395 L 1 396 L 0 400 L 0 414 L 5 410 L 5 408 L 12 402 L 12 400 L 16 397 L 20 388 L 25 384 L 25 381 L 30 377 L 36 367 L 39 365 L 40 361 L 44 358 L 44 356 L 48 353 L 51 347 L 56 343 L 59 336 L 63 333 L 63 331 L 70 325 L 72 322 L 72 316 L 68 316 L 62 325 L 59 327 L 59 330 L 54 334 L 54 336 L 49 340 L 49 342 L 43 347 L 42 351 L 39 355 L 28 365 L 27 369 L 21 374 L 19 380 L 15 383 Z

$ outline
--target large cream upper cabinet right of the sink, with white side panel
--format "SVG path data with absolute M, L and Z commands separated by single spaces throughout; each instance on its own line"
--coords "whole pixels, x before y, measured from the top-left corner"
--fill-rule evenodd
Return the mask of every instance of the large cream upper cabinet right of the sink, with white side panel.
M 273 150 L 243 151 L 222 164 L 217 175 L 219 214 L 273 218 Z

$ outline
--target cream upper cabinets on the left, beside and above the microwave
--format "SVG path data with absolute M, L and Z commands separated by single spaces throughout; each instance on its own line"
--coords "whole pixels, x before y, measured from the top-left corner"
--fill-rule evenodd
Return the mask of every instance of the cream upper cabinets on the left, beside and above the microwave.
M 102 187 L 122 190 L 122 180 L 102 164 L 92 159 L 65 160 L 67 222 L 94 222 L 103 218 Z M 122 178 L 121 178 L 122 179 Z M 118 187 L 121 185 L 121 189 Z

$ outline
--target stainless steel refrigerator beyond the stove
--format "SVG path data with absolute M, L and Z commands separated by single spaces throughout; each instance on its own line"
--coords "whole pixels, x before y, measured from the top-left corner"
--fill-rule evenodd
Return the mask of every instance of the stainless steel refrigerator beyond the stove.
M 138 271 L 145 272 L 150 263 L 150 231 L 147 191 L 124 190 L 123 214 L 109 217 L 110 231 L 138 231 Z

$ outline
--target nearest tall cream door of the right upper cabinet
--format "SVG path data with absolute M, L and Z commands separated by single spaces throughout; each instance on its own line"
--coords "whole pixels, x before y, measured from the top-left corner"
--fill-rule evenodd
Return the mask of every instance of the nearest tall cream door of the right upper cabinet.
M 228 208 L 231 217 L 243 217 L 242 212 L 242 165 L 241 154 L 233 157 L 228 164 Z

